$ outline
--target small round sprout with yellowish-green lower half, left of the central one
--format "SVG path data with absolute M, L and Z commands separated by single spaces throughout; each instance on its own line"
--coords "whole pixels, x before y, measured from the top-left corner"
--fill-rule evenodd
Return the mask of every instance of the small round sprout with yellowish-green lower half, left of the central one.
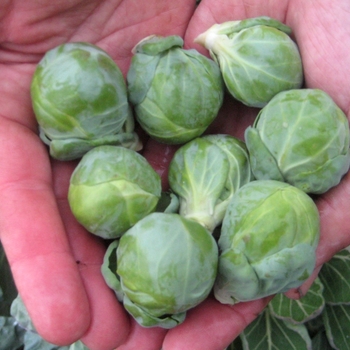
M 68 201 L 76 219 L 91 233 L 117 238 L 153 212 L 161 197 L 160 176 L 137 152 L 99 146 L 75 168 Z

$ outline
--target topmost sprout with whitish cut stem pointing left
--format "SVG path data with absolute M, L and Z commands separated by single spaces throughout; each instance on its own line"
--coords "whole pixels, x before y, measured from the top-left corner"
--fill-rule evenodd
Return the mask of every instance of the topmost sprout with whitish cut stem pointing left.
M 230 94 L 263 107 L 278 92 L 300 88 L 303 68 L 291 29 L 269 17 L 215 24 L 195 41 L 218 62 Z

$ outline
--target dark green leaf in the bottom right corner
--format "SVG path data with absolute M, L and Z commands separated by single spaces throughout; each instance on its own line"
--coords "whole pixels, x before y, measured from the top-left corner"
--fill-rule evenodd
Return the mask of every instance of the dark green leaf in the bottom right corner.
M 334 349 L 350 349 L 350 305 L 326 304 L 323 320 L 329 343 Z

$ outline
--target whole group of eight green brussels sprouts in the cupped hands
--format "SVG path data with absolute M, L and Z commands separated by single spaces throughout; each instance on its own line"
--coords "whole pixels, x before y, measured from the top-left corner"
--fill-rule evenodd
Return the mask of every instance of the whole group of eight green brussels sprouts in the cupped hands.
M 268 17 L 214 25 L 196 41 L 147 37 L 125 84 L 99 48 L 49 51 L 33 77 L 42 140 L 61 160 L 81 158 L 68 200 L 108 241 L 102 274 L 145 327 L 172 328 L 213 291 L 226 304 L 300 286 L 315 266 L 320 222 L 310 197 L 350 166 L 345 114 L 303 89 L 290 29 Z M 244 140 L 203 135 L 227 90 L 261 108 Z M 68 92 L 68 94 L 67 94 Z M 178 144 L 170 190 L 138 152 L 134 117 L 150 137 Z

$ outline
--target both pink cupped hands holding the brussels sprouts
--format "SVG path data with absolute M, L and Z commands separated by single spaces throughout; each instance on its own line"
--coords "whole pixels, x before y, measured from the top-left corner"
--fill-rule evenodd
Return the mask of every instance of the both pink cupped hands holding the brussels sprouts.
M 92 350 L 133 350 L 141 345 L 145 350 L 161 346 L 164 350 L 222 350 L 267 300 L 228 307 L 208 299 L 169 332 L 142 329 L 128 318 L 100 273 L 105 246 L 88 235 L 69 211 L 68 179 L 75 163 L 50 161 L 37 136 L 29 85 L 35 64 L 46 50 L 68 40 L 89 41 L 108 51 L 126 74 L 131 47 L 146 35 L 182 35 L 187 47 L 205 53 L 192 44 L 193 39 L 215 22 L 267 15 L 292 27 L 307 86 L 325 90 L 349 116 L 347 0 L 202 0 L 195 12 L 194 2 L 1 2 L 0 237 L 30 315 L 51 342 L 82 339 Z M 232 108 L 235 120 L 227 118 Z M 256 110 L 228 99 L 211 131 L 229 131 L 242 138 L 255 115 Z M 162 174 L 164 186 L 173 151 L 145 142 L 144 155 Z M 316 201 L 322 226 L 319 269 L 350 244 L 350 174 Z M 299 297 L 310 283 L 311 279 L 288 296 Z

